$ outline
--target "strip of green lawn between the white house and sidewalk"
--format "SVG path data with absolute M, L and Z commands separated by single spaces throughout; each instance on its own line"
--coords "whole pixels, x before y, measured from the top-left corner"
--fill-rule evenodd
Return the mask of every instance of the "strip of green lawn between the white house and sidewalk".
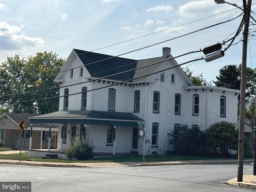
M 0 148 L 1 149 L 1 148 Z M 224 159 L 216 157 L 207 157 L 207 156 L 187 156 L 187 155 L 150 155 L 144 156 L 145 162 L 157 162 L 157 161 L 179 161 L 179 160 L 207 160 L 207 159 Z M 237 156 L 230 156 L 228 158 L 237 159 Z M 252 155 L 244 156 L 244 158 L 252 158 Z M 92 160 L 62 160 L 62 159 L 43 159 L 40 157 L 29 157 L 28 153 L 18 153 L 18 154 L 0 154 L 1 159 L 11 159 L 11 160 L 33 160 L 38 162 L 63 162 L 63 163 L 72 163 L 72 162 L 143 162 L 143 156 L 138 154 L 131 154 L 130 156 L 116 156 L 116 157 L 101 157 L 94 158 Z

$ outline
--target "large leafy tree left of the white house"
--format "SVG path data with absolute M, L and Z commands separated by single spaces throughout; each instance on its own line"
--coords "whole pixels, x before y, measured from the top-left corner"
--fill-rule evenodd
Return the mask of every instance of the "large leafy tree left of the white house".
M 57 56 L 52 52 L 38 52 L 36 56 L 20 58 L 19 55 L 15 55 L 2 62 L 0 66 L 2 108 L 28 114 L 57 111 L 58 98 L 30 101 L 58 96 L 58 84 L 53 80 L 63 66 L 64 60 Z

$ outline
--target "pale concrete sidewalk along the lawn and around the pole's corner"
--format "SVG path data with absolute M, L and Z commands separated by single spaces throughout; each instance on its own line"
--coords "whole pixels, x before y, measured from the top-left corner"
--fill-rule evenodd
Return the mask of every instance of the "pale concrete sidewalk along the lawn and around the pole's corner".
M 27 152 L 27 151 L 22 151 Z M 0 154 L 20 153 L 16 151 L 4 151 Z M 36 162 L 36 161 L 19 161 L 19 160 L 3 160 L 0 159 L 0 164 L 9 165 L 26 165 L 26 166 L 48 166 L 48 167 L 125 167 L 125 166 L 158 166 L 158 165 L 180 165 L 180 164 L 219 164 L 219 163 L 237 163 L 238 160 L 223 159 L 223 160 L 189 160 L 189 161 L 169 161 L 169 162 L 98 162 L 98 163 L 54 163 L 54 162 Z M 253 162 L 253 159 L 244 160 L 244 162 Z M 237 182 L 237 178 L 227 181 L 228 184 L 242 188 L 256 190 L 256 176 L 244 175 L 243 182 Z

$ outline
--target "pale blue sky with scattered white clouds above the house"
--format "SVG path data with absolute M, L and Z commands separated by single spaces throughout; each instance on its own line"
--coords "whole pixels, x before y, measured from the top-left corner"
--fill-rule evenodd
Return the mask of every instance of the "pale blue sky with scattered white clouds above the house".
M 242 6 L 242 0 L 228 2 Z M 67 58 L 73 48 L 112 56 L 138 50 L 122 57 L 145 59 L 161 56 L 162 48 L 170 47 L 172 56 L 178 56 L 234 36 L 242 17 L 176 37 L 240 13 L 234 6 L 216 4 L 214 0 L 0 0 L 0 62 L 15 54 L 23 58 L 44 51 Z M 252 34 L 255 32 L 248 42 L 247 66 L 256 68 L 256 41 Z M 237 44 L 226 50 L 224 57 L 184 67 L 188 66 L 195 75 L 203 73 L 207 81 L 216 80 L 220 68 L 242 62 L 241 38 L 240 33 L 234 41 Z M 147 46 L 150 47 L 144 48 Z M 202 52 L 192 53 L 176 61 L 180 64 L 202 56 Z

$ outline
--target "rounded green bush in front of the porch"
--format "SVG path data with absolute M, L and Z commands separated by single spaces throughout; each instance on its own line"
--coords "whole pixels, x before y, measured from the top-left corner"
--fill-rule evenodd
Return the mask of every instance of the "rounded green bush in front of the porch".
M 72 138 L 70 146 L 66 149 L 65 154 L 69 160 L 88 160 L 93 158 L 94 148 L 93 140 L 76 135 Z

